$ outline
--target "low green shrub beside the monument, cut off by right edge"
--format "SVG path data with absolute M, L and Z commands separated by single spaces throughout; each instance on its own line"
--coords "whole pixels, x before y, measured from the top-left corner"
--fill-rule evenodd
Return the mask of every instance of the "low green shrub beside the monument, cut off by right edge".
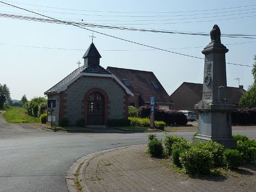
M 237 150 L 243 154 L 243 160 L 256 164 L 256 141 L 247 139 L 237 141 Z

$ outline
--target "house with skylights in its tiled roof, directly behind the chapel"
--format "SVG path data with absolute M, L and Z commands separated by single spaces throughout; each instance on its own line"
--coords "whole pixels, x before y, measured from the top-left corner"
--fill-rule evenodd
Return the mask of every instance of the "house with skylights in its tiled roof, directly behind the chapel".
M 145 103 L 150 104 L 150 97 L 154 96 L 157 107 L 172 109 L 172 99 L 153 72 L 115 67 L 107 67 L 106 70 L 115 75 L 134 94 L 129 97 L 129 105 L 138 107 Z

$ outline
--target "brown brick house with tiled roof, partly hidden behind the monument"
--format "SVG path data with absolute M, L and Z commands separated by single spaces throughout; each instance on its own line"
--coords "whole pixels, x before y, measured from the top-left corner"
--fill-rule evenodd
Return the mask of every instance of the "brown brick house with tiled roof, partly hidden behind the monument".
M 227 87 L 227 100 L 238 106 L 239 100 L 244 92 L 243 86 L 239 86 L 239 88 Z M 181 86 L 170 95 L 170 98 L 174 101 L 173 109 L 194 111 L 198 115 L 197 110 L 195 110 L 195 104 L 202 100 L 202 94 L 203 84 L 183 82 Z

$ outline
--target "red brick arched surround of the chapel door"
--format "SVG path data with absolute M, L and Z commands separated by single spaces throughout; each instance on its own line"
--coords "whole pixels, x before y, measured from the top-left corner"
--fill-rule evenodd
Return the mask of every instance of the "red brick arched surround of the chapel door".
M 83 112 L 82 115 L 84 116 L 84 124 L 87 125 L 87 112 L 88 112 L 88 97 L 94 93 L 94 92 L 99 92 L 101 95 L 103 95 L 104 97 L 104 125 L 107 124 L 108 119 L 109 119 L 109 115 L 110 115 L 110 100 L 108 95 L 106 94 L 106 92 L 100 88 L 92 88 L 90 89 L 85 95 L 84 95 L 84 99 L 83 99 Z

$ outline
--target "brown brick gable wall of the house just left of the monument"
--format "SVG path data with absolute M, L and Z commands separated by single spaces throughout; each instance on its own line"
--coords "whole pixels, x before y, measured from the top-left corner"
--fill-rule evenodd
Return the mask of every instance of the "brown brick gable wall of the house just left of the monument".
M 198 111 L 195 110 L 195 104 L 202 100 L 194 91 L 192 91 L 186 84 L 182 84 L 170 98 L 174 101 L 174 110 L 194 111 L 198 117 Z

